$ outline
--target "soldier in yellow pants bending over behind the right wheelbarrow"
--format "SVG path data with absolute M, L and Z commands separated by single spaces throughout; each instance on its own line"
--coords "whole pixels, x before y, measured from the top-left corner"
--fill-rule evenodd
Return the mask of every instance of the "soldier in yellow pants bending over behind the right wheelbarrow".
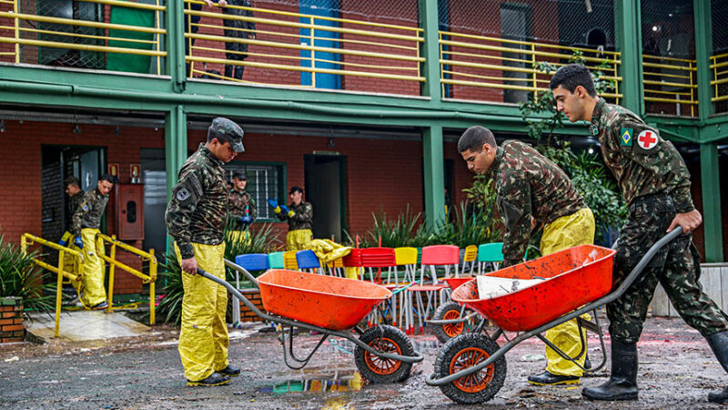
M 515 140 L 498 147 L 490 130 L 478 126 L 462 134 L 458 151 L 468 169 L 495 179 L 496 203 L 507 230 L 503 237 L 503 267 L 523 260 L 535 222 L 543 224 L 543 255 L 594 242 L 591 210 L 563 170 L 539 151 Z M 589 319 L 588 315 L 585 319 Z M 577 319 L 551 328 L 546 338 L 579 365 L 547 345 L 546 370 L 529 376 L 529 383 L 578 384 L 586 361 L 586 354 L 581 353 L 586 352 L 586 346 L 581 347 Z

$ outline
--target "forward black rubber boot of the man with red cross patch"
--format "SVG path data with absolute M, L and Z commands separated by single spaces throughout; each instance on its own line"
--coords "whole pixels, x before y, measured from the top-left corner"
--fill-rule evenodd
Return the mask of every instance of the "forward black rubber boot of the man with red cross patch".
M 590 400 L 637 400 L 637 343 L 612 339 L 612 375 L 599 387 L 587 387 L 581 395 Z

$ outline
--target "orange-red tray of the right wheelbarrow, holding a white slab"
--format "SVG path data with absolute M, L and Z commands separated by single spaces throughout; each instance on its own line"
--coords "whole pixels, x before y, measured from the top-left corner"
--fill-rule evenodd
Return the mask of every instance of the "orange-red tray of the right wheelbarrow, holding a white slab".
M 504 331 L 530 331 L 609 293 L 615 252 L 595 245 L 573 247 L 487 275 L 545 279 L 531 287 L 479 299 L 477 281 L 472 279 L 453 291 L 450 298 L 465 303 Z

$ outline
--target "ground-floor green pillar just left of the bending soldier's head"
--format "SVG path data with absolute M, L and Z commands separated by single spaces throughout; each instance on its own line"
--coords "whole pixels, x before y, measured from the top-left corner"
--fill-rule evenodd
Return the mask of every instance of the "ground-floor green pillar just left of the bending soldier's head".
M 424 146 L 425 222 L 430 228 L 445 220 L 445 169 L 442 154 L 442 127 L 425 128 Z

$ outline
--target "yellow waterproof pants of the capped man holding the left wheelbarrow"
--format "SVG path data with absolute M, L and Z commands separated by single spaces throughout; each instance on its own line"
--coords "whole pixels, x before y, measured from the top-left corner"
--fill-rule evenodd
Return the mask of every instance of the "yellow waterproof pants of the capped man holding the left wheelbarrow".
M 225 279 L 225 243 L 192 243 L 197 267 Z M 177 261 L 182 263 L 175 243 Z M 179 331 L 179 357 L 185 377 L 198 382 L 227 367 L 227 289 L 199 275 L 182 272 L 182 327 Z

